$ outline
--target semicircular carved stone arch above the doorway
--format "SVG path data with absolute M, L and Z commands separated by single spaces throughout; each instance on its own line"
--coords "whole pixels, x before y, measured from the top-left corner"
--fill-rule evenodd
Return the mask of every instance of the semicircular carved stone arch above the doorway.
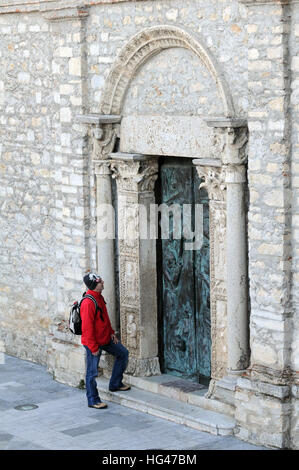
M 126 91 L 138 68 L 151 56 L 173 47 L 189 49 L 199 57 L 216 84 L 225 116 L 234 117 L 229 88 L 212 54 L 197 38 L 182 28 L 169 25 L 147 28 L 133 36 L 123 47 L 107 77 L 100 113 L 121 115 Z

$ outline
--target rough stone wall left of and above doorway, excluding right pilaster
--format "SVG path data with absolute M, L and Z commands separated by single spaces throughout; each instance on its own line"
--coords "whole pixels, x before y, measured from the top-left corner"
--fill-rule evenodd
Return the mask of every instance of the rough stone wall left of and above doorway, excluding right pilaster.
M 0 15 L 1 330 L 8 353 L 45 363 L 53 319 L 67 316 L 83 289 L 82 272 L 96 264 L 91 142 L 76 115 L 98 112 L 121 48 L 138 31 L 158 24 L 187 25 L 189 33 L 203 39 L 232 83 L 237 112 L 245 115 L 247 11 L 236 1 L 187 1 L 182 8 L 179 0 L 165 0 L 99 2 L 85 10 L 75 8 L 74 1 L 22 2 L 22 7 L 18 2 L 19 11 L 13 13 L 14 3 L 0 9 L 6 13 Z M 168 57 L 172 71 L 161 91 L 158 82 Z M 184 64 L 185 75 L 177 69 Z M 199 59 L 188 50 L 158 55 L 140 69 L 128 93 L 127 112 L 136 106 L 145 114 L 176 113 L 182 103 L 173 103 L 182 92 L 189 95 L 182 114 L 216 112 L 211 99 L 216 89 L 209 99 L 203 97 L 209 82 L 200 69 Z M 186 80 L 190 85 L 184 91 Z M 151 96 L 154 108 L 146 108 Z

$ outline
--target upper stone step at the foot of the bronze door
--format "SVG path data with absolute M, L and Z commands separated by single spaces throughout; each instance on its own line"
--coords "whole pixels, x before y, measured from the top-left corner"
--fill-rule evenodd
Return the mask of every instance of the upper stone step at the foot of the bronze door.
M 235 408 L 231 404 L 206 398 L 207 388 L 196 390 L 196 383 L 182 380 L 169 374 L 161 374 L 151 377 L 134 377 L 124 374 L 124 382 L 134 387 L 157 393 L 175 400 L 199 406 L 205 410 L 216 411 L 231 417 L 235 416 Z M 189 388 L 189 390 L 188 390 Z

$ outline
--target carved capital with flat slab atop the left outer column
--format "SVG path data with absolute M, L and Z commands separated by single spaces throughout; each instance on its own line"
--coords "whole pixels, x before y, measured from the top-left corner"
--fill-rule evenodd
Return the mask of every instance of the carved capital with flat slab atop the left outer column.
M 76 119 L 91 126 L 93 160 L 106 160 L 113 151 L 116 138 L 119 137 L 121 116 L 87 114 L 78 115 Z

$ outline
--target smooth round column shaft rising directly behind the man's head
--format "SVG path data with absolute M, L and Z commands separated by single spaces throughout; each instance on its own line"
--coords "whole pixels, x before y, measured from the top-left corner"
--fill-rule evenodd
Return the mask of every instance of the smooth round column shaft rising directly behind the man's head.
M 115 217 L 112 206 L 110 161 L 98 160 L 94 164 L 97 179 L 97 271 L 105 281 L 103 294 L 107 302 L 112 327 L 116 329 L 114 277 Z

